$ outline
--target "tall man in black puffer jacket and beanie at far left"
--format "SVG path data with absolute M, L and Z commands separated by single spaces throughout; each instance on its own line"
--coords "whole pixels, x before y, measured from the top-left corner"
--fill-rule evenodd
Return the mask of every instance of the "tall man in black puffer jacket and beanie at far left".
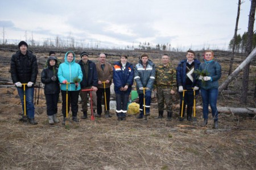
M 17 87 L 20 101 L 22 102 L 23 115 L 20 121 L 30 122 L 31 125 L 38 124 L 35 121 L 34 107 L 34 84 L 38 74 L 38 62 L 36 56 L 28 51 L 26 42 L 18 44 L 19 51 L 11 57 L 11 78 Z M 26 84 L 26 115 L 24 114 L 23 86 Z

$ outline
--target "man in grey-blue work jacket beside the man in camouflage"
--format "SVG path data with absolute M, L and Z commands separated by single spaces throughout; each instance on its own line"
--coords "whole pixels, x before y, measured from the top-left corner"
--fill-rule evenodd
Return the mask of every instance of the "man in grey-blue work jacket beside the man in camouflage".
M 155 64 L 148 59 L 147 53 L 141 55 L 141 60 L 135 66 L 134 80 L 139 94 L 139 110 L 141 111 L 137 118 L 142 119 L 144 115 L 144 97 L 145 112 L 146 115 L 150 115 L 151 93 L 155 81 Z M 143 94 L 143 88 L 146 88 L 145 94 Z

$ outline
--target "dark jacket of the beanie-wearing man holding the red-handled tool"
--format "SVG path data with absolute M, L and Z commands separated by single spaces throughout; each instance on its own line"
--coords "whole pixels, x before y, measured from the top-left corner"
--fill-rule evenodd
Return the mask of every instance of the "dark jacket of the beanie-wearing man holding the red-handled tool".
M 85 88 L 88 86 L 98 86 L 98 74 L 97 74 L 97 69 L 95 63 L 93 61 L 88 60 L 88 66 L 89 66 L 89 71 L 88 71 L 88 78 L 86 80 L 85 76 L 85 71 L 84 71 L 84 65 L 82 63 L 82 60 L 79 61 L 79 65 L 82 70 L 82 81 L 80 82 L 81 88 Z

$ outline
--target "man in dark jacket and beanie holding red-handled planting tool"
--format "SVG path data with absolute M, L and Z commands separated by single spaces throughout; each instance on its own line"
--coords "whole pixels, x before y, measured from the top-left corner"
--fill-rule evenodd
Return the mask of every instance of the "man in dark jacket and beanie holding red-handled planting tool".
M 87 94 L 88 92 L 82 92 L 83 89 L 93 89 L 92 91 L 92 102 L 93 102 L 93 113 L 95 113 L 95 110 L 97 109 L 97 86 L 98 86 L 98 74 L 96 65 L 93 63 L 93 61 L 88 60 L 88 53 L 85 51 L 82 51 L 80 54 L 81 60 L 79 61 L 79 64 L 82 69 L 82 81 L 80 82 L 81 85 L 81 91 L 80 96 L 82 99 L 82 119 L 87 119 Z

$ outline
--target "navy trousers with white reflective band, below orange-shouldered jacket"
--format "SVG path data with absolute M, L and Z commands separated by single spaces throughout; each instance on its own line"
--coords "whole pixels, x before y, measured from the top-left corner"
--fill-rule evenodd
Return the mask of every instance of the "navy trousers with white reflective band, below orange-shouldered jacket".
M 129 94 L 117 94 L 115 93 L 115 101 L 117 101 L 117 117 L 126 117 L 127 103 L 129 100 Z

